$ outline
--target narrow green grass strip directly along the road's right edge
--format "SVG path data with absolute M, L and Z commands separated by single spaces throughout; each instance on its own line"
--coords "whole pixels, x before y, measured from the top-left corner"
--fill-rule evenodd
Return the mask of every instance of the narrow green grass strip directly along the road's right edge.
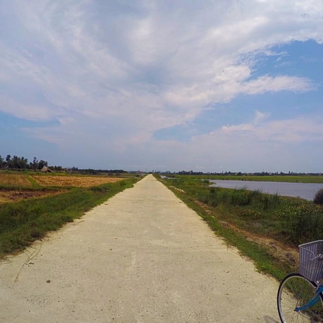
M 206 192 L 207 190 L 209 190 L 207 183 L 198 185 L 196 181 L 190 180 L 187 180 L 180 184 L 180 181 L 178 180 L 161 180 L 161 182 L 163 182 L 167 187 L 173 190 L 173 192 L 190 208 L 196 211 L 214 232 L 225 238 L 228 244 L 237 247 L 243 256 L 247 256 L 252 259 L 259 272 L 270 274 L 278 280 L 281 280 L 288 273 L 295 270 L 295 268 L 293 268 L 286 262 L 278 262 L 266 247 L 246 240 L 242 234 L 231 229 L 230 227 L 221 226 L 219 224 L 218 218 L 219 210 L 209 213 L 206 212 L 204 208 L 199 206 L 196 203 L 196 197 L 199 194 L 198 191 Z M 174 189 L 174 187 L 183 189 L 186 193 L 182 193 Z

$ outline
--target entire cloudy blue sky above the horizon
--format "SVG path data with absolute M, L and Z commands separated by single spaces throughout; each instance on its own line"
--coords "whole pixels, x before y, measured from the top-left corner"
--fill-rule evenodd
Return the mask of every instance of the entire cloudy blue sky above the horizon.
M 0 154 L 323 172 L 322 0 L 0 0 Z

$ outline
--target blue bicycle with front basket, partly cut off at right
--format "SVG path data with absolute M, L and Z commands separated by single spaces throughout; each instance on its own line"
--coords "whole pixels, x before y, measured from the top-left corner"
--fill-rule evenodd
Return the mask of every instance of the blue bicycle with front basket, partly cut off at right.
M 282 323 L 323 323 L 323 240 L 299 245 L 299 273 L 282 280 L 277 307 Z

